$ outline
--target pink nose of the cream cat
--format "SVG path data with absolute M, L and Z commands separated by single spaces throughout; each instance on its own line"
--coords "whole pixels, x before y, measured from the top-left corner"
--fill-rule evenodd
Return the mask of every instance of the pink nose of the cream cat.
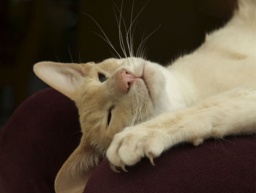
M 129 91 L 129 86 L 133 82 L 133 80 L 135 80 L 135 77 L 129 74 L 124 69 L 120 69 L 117 73 L 120 91 L 123 93 L 127 93 Z

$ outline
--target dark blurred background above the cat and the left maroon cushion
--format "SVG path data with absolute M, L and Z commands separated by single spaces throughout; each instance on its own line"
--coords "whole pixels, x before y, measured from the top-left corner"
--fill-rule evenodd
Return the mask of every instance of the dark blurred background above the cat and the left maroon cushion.
M 222 26 L 232 15 L 234 0 L 135 1 L 135 48 L 146 42 L 146 58 L 167 64 L 202 44 L 206 32 Z M 3 0 L 0 3 L 0 129 L 13 110 L 31 94 L 47 87 L 33 73 L 37 61 L 86 62 L 113 57 L 110 46 L 91 15 L 118 53 L 118 25 L 113 12 L 120 0 Z M 119 15 L 117 8 L 116 14 Z M 129 26 L 132 1 L 124 0 Z M 123 29 L 124 31 L 124 26 Z M 95 33 L 97 34 L 95 34 Z M 111 53 L 112 52 L 112 53 Z

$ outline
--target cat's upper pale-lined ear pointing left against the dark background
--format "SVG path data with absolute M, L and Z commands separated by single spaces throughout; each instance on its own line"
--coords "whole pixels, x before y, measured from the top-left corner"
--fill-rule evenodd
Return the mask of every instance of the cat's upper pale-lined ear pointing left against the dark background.
M 74 100 L 75 91 L 83 78 L 88 75 L 94 62 L 86 64 L 58 63 L 42 61 L 34 64 L 35 74 L 49 86 Z

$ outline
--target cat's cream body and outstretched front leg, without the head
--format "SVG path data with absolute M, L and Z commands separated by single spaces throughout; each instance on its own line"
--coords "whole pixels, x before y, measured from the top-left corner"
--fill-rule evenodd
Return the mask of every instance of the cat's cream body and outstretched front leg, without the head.
M 238 5 L 230 22 L 208 34 L 194 53 L 178 58 L 164 72 L 159 67 L 165 92 L 157 101 L 159 90 L 154 88 L 153 101 L 160 104 L 167 96 L 168 107 L 114 136 L 107 151 L 113 165 L 159 156 L 184 141 L 199 145 L 208 137 L 256 132 L 256 1 Z

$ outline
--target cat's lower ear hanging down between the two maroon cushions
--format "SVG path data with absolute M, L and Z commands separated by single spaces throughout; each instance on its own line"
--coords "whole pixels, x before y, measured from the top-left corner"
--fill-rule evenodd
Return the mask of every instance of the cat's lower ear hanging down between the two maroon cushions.
M 93 146 L 80 143 L 56 176 L 56 193 L 83 192 L 91 173 L 99 163 L 99 157 L 100 154 Z

